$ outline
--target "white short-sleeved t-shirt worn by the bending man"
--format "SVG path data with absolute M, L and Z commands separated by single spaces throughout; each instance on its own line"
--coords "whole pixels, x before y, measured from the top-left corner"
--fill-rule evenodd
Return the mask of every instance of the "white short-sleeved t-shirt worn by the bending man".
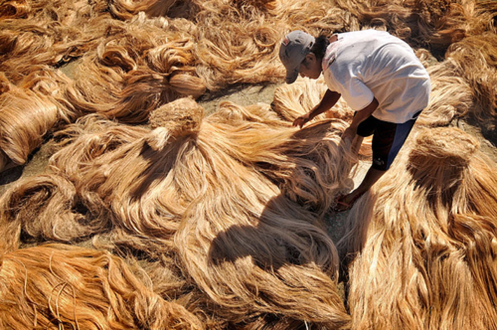
M 405 123 L 428 105 L 428 72 L 406 42 L 376 30 L 337 36 L 323 58 L 323 75 L 328 88 L 340 93 L 353 110 L 376 97 L 374 117 Z

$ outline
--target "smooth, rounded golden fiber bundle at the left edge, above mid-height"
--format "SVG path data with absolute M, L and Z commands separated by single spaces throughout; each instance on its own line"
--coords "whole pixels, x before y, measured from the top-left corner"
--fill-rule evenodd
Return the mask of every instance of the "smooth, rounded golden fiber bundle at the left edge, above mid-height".
M 1 81 L 0 148 L 12 165 L 23 165 L 46 133 L 91 111 L 72 81 L 48 66 L 32 67 L 18 86 Z

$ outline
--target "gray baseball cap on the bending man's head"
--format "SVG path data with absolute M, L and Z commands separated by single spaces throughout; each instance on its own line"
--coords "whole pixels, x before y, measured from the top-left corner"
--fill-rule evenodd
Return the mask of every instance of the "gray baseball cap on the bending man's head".
M 281 41 L 279 56 L 286 68 L 286 83 L 293 83 L 299 76 L 300 64 L 314 45 L 315 38 L 304 31 L 288 33 Z

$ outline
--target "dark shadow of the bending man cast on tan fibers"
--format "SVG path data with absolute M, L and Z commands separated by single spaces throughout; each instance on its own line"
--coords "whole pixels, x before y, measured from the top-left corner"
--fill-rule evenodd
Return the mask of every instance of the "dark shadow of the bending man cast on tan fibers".
M 331 126 L 331 122 L 333 120 L 328 119 L 313 123 L 296 131 L 294 137 L 306 139 L 309 134 L 314 134 L 313 138 L 316 138 L 315 134 L 319 131 L 320 138 L 324 139 L 328 131 L 317 130 L 316 126 Z M 330 143 L 334 144 L 337 152 L 349 148 L 342 140 Z M 257 164 L 256 168 L 263 169 L 264 173 L 272 166 Z M 302 177 L 296 177 L 298 175 Z M 302 182 L 316 179 L 313 173 L 305 170 L 293 172 L 291 176 Z M 284 182 L 281 179 L 267 177 L 280 188 L 283 187 Z M 220 265 L 223 262 L 235 262 L 239 258 L 250 256 L 255 266 L 272 272 L 284 265 L 302 266 L 315 263 L 325 271 L 337 265 L 336 254 L 332 251 L 334 247 L 331 247 L 332 240 L 323 219 L 320 219 L 312 206 L 306 205 L 305 200 L 299 198 L 291 200 L 286 193 L 283 188 L 279 195 L 266 203 L 257 219 L 257 225 L 234 225 L 220 232 L 211 243 L 208 262 Z M 327 257 L 326 254 L 334 254 L 335 260 L 332 260 L 331 255 Z

